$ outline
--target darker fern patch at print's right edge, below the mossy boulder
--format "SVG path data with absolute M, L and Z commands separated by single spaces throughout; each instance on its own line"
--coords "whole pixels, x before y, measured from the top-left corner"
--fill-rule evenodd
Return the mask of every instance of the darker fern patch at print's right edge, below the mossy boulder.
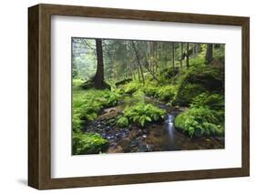
M 204 92 L 192 99 L 190 107 L 207 107 L 213 110 L 221 110 L 224 109 L 224 97 L 220 94 Z

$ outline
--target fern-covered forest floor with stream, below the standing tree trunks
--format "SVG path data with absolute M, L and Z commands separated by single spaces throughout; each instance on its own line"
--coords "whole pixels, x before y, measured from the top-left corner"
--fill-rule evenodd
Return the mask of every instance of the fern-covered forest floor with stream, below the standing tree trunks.
M 74 79 L 73 154 L 224 148 L 223 68 L 163 72 L 111 90 Z

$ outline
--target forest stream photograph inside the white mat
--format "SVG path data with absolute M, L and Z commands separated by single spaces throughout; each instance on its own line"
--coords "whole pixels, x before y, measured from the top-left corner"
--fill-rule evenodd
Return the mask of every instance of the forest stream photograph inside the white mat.
M 224 44 L 71 42 L 73 155 L 224 148 Z

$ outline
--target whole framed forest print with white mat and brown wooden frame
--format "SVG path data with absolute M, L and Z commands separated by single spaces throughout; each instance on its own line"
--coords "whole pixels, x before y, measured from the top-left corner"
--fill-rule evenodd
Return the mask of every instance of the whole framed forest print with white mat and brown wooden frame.
M 28 9 L 28 185 L 250 174 L 250 20 Z

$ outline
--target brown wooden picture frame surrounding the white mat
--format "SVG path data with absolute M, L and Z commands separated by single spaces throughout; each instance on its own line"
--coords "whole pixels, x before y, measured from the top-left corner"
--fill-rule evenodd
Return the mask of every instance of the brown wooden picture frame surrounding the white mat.
M 162 22 L 241 26 L 242 28 L 242 166 L 207 170 L 51 179 L 51 15 L 72 15 Z M 250 19 L 70 5 L 35 5 L 28 9 L 28 185 L 58 189 L 250 174 Z

